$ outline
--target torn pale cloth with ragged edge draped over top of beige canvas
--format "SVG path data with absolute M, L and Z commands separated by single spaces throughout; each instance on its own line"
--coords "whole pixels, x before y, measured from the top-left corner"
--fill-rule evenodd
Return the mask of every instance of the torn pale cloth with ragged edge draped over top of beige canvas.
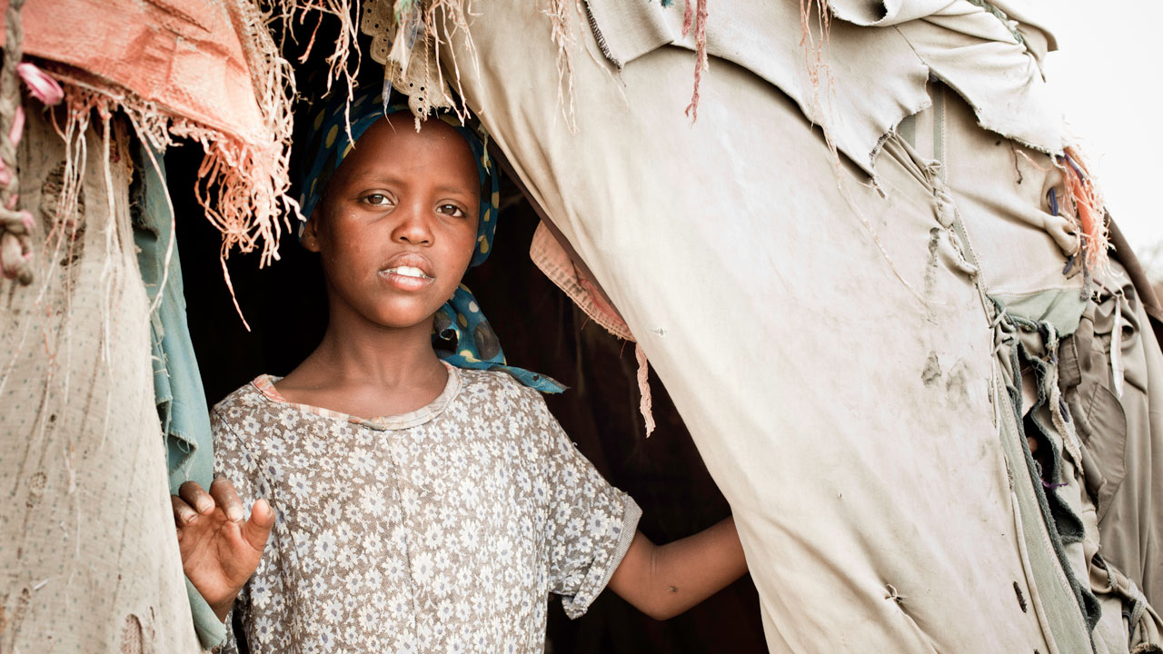
M 682 2 L 586 5 L 601 51 L 619 67 L 666 43 L 695 47 L 693 30 L 683 36 Z M 932 104 L 930 77 L 969 98 L 987 129 L 1062 151 L 1061 111 L 1040 67 L 1055 47 L 1049 31 L 971 0 L 832 0 L 839 20 L 823 35 L 815 5 L 721 0 L 707 21 L 707 52 L 779 87 L 865 172 L 873 172 L 884 135 Z

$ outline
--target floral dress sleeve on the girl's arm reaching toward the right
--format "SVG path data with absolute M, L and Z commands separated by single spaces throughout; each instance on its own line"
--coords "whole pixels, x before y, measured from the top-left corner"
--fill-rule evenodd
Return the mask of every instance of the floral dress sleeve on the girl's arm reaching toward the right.
M 549 590 L 562 596 L 566 616 L 578 618 L 626 556 L 642 510 L 602 478 L 540 397 L 537 403 L 544 413 L 544 474 L 551 489 L 545 525 Z

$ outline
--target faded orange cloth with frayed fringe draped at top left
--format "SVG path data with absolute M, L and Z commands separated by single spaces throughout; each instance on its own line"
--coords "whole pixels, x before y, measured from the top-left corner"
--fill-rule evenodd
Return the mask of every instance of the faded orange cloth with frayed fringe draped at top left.
M 200 142 L 198 197 L 223 258 L 234 246 L 278 258 L 283 216 L 298 212 L 287 197 L 294 88 L 257 3 L 37 0 L 22 15 L 24 55 L 64 85 L 71 126 L 120 109 L 156 148 Z

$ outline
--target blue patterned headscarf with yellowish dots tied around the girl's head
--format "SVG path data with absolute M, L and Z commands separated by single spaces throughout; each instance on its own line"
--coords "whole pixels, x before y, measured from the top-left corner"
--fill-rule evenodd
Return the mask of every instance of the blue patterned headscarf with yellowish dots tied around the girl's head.
M 311 218 L 331 176 L 338 170 L 359 136 L 385 115 L 408 111 L 406 101 L 390 105 L 385 109 L 381 104 L 383 94 L 374 91 L 357 92 L 350 109 L 347 109 L 345 98 L 342 94 L 336 95 L 337 98 L 312 116 L 312 125 L 307 131 L 308 145 L 302 159 L 306 172 L 302 176 L 302 192 L 299 199 L 305 218 Z M 480 212 L 477 221 L 477 246 L 472 261 L 469 262 L 469 268 L 473 268 L 484 263 L 492 249 L 500 202 L 500 173 L 488 161 L 485 150 L 488 135 L 483 127 L 470 129 L 449 114 L 436 114 L 430 119 L 443 120 L 456 128 L 469 143 L 477 161 L 480 177 Z M 350 134 L 348 121 L 351 126 Z M 302 234 L 302 225 L 299 226 L 299 234 Z M 436 312 L 433 329 L 434 340 L 456 341 L 456 351 L 437 350 L 441 358 L 452 365 L 477 370 L 502 370 L 522 384 L 542 392 L 558 393 L 564 390 L 564 386 L 550 377 L 505 364 L 500 340 L 481 313 L 477 299 L 464 284 L 461 284 L 452 298 Z

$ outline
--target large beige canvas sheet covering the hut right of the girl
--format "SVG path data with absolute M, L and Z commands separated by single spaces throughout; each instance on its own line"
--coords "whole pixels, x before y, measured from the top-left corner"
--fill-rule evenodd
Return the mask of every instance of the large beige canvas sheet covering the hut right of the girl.
M 666 385 L 772 652 L 1127 652 L 1157 633 L 1140 610 L 1128 634 L 1128 600 L 1087 583 L 1093 506 L 1047 354 L 1085 306 L 1047 204 L 1053 38 L 980 2 L 835 5 L 821 101 L 797 3 L 715 2 L 693 123 L 682 2 L 565 13 L 576 129 L 557 45 L 525 36 L 550 20 L 523 3 L 491 2 L 442 56 Z M 1019 353 L 1044 358 L 1029 403 Z M 1090 520 L 1065 549 L 1026 419 L 1053 421 L 1069 483 L 1046 492 Z

